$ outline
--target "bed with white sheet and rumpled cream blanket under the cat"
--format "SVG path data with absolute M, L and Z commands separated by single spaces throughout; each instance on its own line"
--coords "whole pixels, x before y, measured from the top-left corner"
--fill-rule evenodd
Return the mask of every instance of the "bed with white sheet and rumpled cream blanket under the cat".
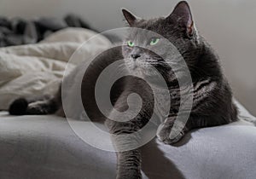
M 0 49 L 1 179 L 115 177 L 115 153 L 81 140 L 67 119 L 55 115 L 10 116 L 5 112 L 17 97 L 54 93 L 69 57 L 94 34 L 66 29 L 38 44 Z M 90 45 L 93 50 L 88 50 L 88 55 L 110 43 L 102 37 Z M 236 123 L 191 131 L 175 146 L 155 138 L 148 142 L 142 147 L 143 178 L 254 179 L 256 118 L 239 102 L 236 104 L 240 118 Z M 108 136 L 98 142 L 111 145 Z

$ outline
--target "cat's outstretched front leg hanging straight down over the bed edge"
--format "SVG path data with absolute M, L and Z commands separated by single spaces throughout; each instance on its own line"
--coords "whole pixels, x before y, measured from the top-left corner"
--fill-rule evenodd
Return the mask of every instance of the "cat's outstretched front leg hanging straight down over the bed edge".
M 108 130 L 112 134 L 113 146 L 118 155 L 117 179 L 141 179 L 141 153 L 143 132 L 154 112 L 154 95 L 148 92 L 144 84 L 133 84 L 134 80 L 114 104 L 114 109 L 106 120 Z M 140 95 L 142 104 L 136 93 Z M 128 105 L 129 96 L 129 105 Z M 125 112 L 125 113 L 120 113 Z M 111 120 L 112 119 L 112 120 Z

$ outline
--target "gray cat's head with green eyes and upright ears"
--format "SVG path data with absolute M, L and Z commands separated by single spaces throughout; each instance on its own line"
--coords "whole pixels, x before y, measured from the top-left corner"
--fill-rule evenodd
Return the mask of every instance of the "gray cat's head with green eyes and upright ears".
M 188 3 L 180 2 L 172 14 L 151 20 L 138 18 L 126 9 L 122 9 L 122 12 L 129 26 L 135 27 L 131 29 L 123 45 L 125 65 L 131 72 L 154 76 L 154 66 L 158 71 L 166 73 L 170 70 L 166 63 L 177 66 L 179 71 L 181 61 L 178 60 L 177 53 L 173 52 L 175 49 L 166 45 L 166 40 L 173 44 L 188 66 L 195 63 L 200 42 Z M 154 49 L 157 49 L 157 54 Z

